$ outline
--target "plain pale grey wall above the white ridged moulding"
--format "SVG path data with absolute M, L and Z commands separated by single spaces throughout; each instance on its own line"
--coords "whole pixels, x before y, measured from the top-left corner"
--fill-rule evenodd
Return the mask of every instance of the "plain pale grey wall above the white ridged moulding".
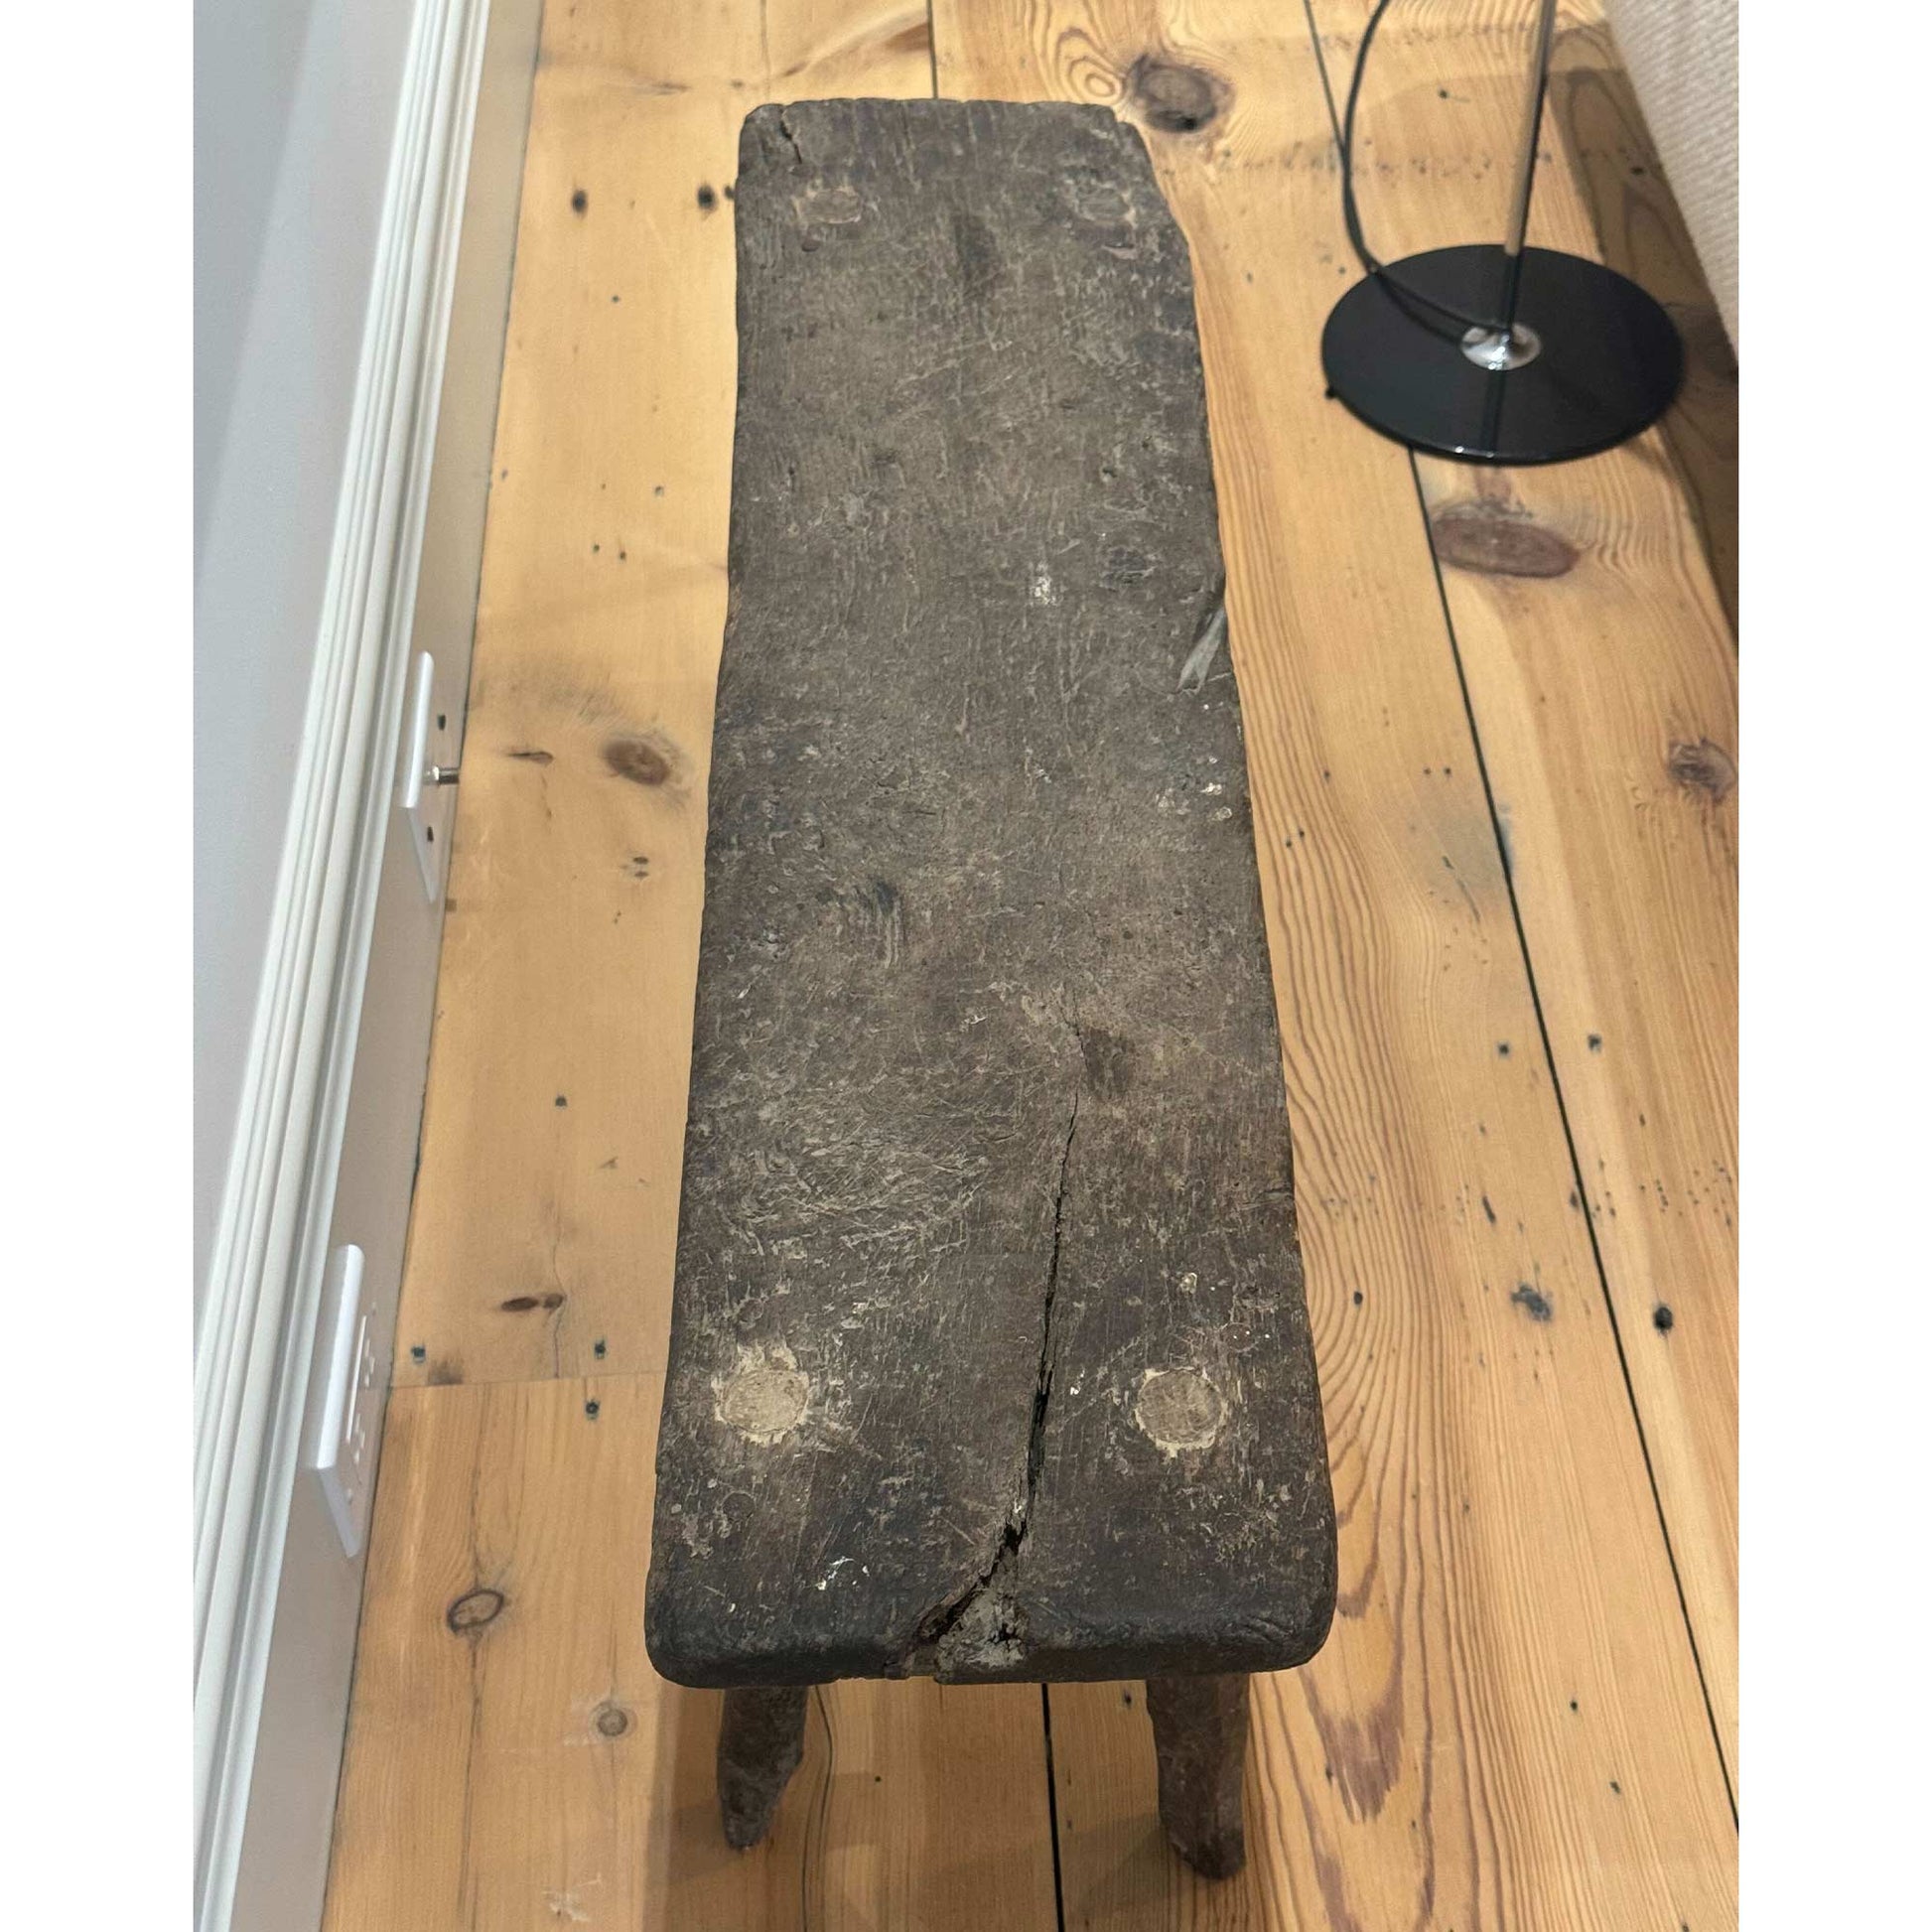
M 321 634 L 408 0 L 195 0 L 195 1310 Z

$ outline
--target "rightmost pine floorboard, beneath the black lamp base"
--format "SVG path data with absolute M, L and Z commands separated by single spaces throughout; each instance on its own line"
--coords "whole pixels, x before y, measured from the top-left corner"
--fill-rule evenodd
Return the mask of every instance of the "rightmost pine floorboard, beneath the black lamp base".
M 1520 31 L 1391 15 L 1362 122 L 1378 151 L 1381 251 L 1482 234 L 1493 133 L 1515 126 Z M 1329 81 L 1360 0 L 1316 0 Z M 1662 294 L 1685 290 L 1656 176 L 1611 120 L 1600 27 L 1563 37 L 1532 240 L 1594 253 L 1615 209 Z M 1627 195 L 1605 180 L 1617 155 Z M 1642 170 L 1633 174 L 1631 170 Z M 1507 172 L 1507 170 L 1505 170 Z M 1638 189 L 1642 199 L 1638 199 Z M 1646 245 L 1644 238 L 1658 243 Z M 1708 299 L 1708 298 L 1706 298 Z M 1698 303 L 1677 303 L 1694 336 Z M 1580 464 L 1418 462 L 1549 1055 L 1644 1426 L 1704 1687 L 1737 1762 L 1737 643 L 1679 487 L 1723 446 L 1719 377 L 1690 359 L 1677 410 Z M 1735 423 L 1735 413 L 1731 417 Z M 1687 452 L 1689 464 L 1675 450 Z M 1735 464 L 1731 466 L 1735 487 Z M 1704 493 L 1712 500 L 1712 491 Z M 1718 518 L 1721 524 L 1721 516 Z

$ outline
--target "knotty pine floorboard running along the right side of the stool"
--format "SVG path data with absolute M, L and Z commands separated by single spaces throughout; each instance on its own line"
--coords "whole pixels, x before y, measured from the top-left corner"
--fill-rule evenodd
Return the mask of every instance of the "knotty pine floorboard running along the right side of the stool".
M 1066 1918 L 1729 1924 L 1723 1768 L 1414 479 L 1310 379 L 1352 269 L 1304 23 L 943 4 L 937 52 L 947 93 L 1119 102 L 1192 243 L 1341 1517 L 1335 1633 L 1256 1692 L 1236 1891 L 1122 1861 L 1138 1714 L 1053 1692 Z

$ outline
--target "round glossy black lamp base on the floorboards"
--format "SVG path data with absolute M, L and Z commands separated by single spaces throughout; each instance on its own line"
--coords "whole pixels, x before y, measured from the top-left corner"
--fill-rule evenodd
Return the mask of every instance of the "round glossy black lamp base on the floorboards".
M 1410 448 L 1482 464 L 1594 456 L 1648 429 L 1683 381 L 1671 319 L 1602 263 L 1524 249 L 1507 352 L 1495 338 L 1464 342 L 1455 323 L 1403 294 L 1493 315 L 1501 247 L 1439 247 L 1387 267 L 1387 278 L 1366 276 L 1335 303 L 1321 367 L 1370 429 Z

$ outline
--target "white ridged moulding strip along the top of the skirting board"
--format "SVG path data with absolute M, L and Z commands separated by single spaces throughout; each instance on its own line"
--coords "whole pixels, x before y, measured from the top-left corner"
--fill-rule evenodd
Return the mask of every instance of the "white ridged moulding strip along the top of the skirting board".
M 240 1128 L 195 1343 L 195 1918 L 224 1932 L 296 1476 L 489 0 L 417 0 Z

